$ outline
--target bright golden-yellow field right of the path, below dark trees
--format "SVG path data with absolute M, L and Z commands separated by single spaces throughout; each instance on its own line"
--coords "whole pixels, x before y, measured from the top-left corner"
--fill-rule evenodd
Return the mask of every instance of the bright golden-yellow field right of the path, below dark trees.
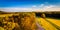
M 43 18 L 37 18 L 38 19 L 38 22 L 39 24 L 45 29 L 45 30 L 59 30 L 57 29 L 56 27 L 54 27 L 54 25 L 52 25 L 50 22 L 52 22 L 53 24 L 59 26 L 60 28 L 60 20 L 57 20 L 57 19 L 52 19 L 52 18 L 46 18 L 46 19 L 43 19 Z M 48 22 L 48 21 L 50 22 Z

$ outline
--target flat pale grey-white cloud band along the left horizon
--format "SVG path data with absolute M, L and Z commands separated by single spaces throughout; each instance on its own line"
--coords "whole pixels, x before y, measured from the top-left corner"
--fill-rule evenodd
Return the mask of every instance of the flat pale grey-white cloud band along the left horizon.
M 33 8 L 0 8 L 0 11 L 4 12 L 32 12 L 36 11 L 38 9 L 33 9 Z

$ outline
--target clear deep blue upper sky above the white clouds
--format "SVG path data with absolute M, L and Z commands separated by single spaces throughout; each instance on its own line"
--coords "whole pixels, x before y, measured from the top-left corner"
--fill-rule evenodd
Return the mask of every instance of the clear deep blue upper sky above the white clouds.
M 0 0 L 0 7 L 30 8 L 33 5 L 60 5 L 60 0 Z

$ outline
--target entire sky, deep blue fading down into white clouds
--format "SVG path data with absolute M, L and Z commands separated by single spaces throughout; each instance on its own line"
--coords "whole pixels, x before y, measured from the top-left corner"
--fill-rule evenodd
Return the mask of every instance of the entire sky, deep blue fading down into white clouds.
M 60 0 L 0 0 L 0 8 L 19 10 L 45 10 L 60 8 Z M 18 10 L 18 11 L 19 11 Z M 5 10 L 4 10 L 5 11 Z

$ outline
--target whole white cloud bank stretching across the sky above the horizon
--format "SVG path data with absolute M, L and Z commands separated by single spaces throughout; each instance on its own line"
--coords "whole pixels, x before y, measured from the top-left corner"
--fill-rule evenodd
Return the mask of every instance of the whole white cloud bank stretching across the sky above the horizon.
M 11 7 L 11 8 L 0 8 L 0 11 L 5 12 L 46 12 L 46 11 L 60 11 L 60 7 L 49 5 L 45 6 L 44 4 L 41 4 L 39 8 L 36 8 L 37 6 L 33 6 L 31 8 L 17 8 L 17 7 Z

